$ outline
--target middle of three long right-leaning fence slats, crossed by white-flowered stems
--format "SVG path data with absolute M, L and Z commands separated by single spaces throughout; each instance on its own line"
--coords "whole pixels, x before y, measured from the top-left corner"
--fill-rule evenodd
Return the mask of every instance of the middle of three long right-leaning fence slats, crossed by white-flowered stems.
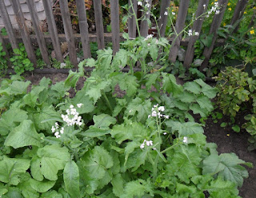
M 198 2 L 198 10 L 195 16 L 198 19 L 193 24 L 193 31 L 198 32 L 198 35 L 190 36 L 189 45 L 187 46 L 187 49 L 186 49 L 185 61 L 183 64 L 186 69 L 189 69 L 190 64 L 194 59 L 194 43 L 199 38 L 199 34 L 202 29 L 202 22 L 204 20 L 204 17 L 202 17 L 202 14 L 206 12 L 208 4 L 209 4 L 209 0 L 200 0 Z

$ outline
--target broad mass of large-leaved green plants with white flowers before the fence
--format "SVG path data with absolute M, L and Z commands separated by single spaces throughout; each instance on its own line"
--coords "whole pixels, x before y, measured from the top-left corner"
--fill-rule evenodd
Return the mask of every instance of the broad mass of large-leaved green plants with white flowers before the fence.
M 99 50 L 66 81 L 42 78 L 29 93 L 30 81 L 2 81 L 2 197 L 238 197 L 241 164 L 251 164 L 218 155 L 193 118 L 210 113 L 217 89 L 160 71 L 122 73 L 126 61 L 125 49 Z M 95 69 L 70 98 L 84 65 Z

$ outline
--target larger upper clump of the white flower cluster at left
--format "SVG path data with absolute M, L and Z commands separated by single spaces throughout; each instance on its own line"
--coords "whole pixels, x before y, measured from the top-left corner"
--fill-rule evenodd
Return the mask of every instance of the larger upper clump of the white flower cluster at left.
M 82 104 L 77 105 L 81 108 Z M 62 120 L 66 122 L 66 125 L 82 125 L 82 117 L 79 116 L 77 109 L 74 109 L 74 105 L 70 105 L 70 109 L 66 109 L 66 115 L 62 114 Z

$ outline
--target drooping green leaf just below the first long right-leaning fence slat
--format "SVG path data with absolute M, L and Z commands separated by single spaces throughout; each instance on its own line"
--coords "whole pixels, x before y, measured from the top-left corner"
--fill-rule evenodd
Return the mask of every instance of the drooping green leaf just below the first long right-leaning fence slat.
M 170 73 L 162 73 L 162 89 L 167 93 L 172 93 L 174 96 L 183 91 L 182 86 L 176 83 L 176 78 Z

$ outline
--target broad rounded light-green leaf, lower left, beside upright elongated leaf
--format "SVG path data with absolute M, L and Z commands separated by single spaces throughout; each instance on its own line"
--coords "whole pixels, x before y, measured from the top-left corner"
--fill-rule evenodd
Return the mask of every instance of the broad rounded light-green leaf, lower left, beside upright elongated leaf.
M 70 160 L 70 153 L 66 147 L 46 145 L 38 149 L 38 157 L 40 159 L 42 175 L 48 180 L 57 180 L 57 173 Z

